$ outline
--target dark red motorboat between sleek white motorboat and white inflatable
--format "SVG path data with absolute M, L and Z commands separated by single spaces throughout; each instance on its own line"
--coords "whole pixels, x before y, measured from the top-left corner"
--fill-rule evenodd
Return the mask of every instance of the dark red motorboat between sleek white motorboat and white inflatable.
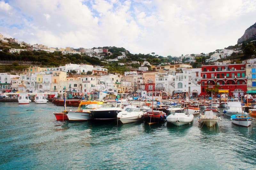
M 143 114 L 144 121 L 148 124 L 163 123 L 166 118 L 166 114 L 159 110 L 150 110 Z

